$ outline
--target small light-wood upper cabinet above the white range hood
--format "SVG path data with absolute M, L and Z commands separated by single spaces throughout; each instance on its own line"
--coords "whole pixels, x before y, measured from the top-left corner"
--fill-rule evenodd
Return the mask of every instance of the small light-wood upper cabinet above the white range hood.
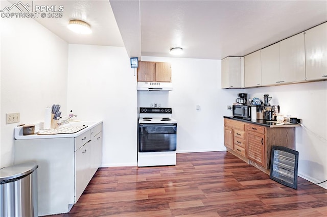
M 171 82 L 170 63 L 139 61 L 137 68 L 138 82 Z

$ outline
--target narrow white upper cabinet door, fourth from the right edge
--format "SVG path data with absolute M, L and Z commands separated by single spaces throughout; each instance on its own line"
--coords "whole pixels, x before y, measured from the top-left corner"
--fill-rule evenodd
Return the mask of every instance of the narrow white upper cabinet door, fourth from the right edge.
M 244 57 L 244 83 L 246 88 L 261 86 L 261 50 Z

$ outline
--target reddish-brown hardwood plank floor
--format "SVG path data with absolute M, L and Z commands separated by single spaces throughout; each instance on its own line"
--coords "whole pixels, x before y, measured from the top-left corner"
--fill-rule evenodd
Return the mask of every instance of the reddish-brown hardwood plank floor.
M 327 190 L 297 189 L 232 154 L 179 153 L 176 166 L 100 168 L 65 216 L 327 216 Z

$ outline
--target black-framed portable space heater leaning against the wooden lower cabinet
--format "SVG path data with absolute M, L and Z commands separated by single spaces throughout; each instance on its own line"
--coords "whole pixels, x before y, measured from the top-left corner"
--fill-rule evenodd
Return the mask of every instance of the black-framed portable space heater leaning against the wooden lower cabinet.
M 297 188 L 298 151 L 272 146 L 270 178 L 286 186 Z

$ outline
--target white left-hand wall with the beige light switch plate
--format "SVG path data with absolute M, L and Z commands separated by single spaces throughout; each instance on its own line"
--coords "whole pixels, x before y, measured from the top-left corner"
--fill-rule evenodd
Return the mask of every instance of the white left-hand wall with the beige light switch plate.
M 1 1 L 1 7 L 11 6 Z M 32 18 L 1 18 L 0 168 L 13 165 L 13 129 L 44 121 L 52 103 L 66 110 L 68 44 Z M 6 124 L 6 113 L 20 122 Z

